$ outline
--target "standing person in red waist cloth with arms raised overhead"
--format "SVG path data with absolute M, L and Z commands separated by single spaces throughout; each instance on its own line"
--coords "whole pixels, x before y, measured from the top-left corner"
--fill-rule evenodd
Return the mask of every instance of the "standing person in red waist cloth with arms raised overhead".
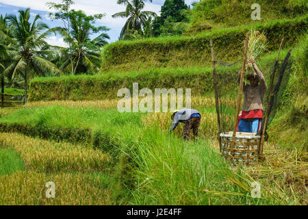
M 255 60 L 249 60 L 253 64 L 254 72 L 247 75 L 249 85 L 244 85 L 244 104 L 242 114 L 240 114 L 240 123 L 238 131 L 257 133 L 261 129 L 261 120 L 263 118 L 263 99 L 266 93 L 266 80 L 259 70 Z

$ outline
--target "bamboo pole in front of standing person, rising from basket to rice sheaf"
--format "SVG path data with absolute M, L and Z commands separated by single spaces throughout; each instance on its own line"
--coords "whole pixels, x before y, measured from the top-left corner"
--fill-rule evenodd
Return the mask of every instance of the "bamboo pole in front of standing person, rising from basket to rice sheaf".
M 246 70 L 246 61 L 247 61 L 247 47 L 248 47 L 248 40 L 249 36 L 246 35 L 245 45 L 244 45 L 244 55 L 243 55 L 243 64 L 241 70 L 241 77 L 240 77 L 240 88 L 238 89 L 238 102 L 236 103 L 236 112 L 234 117 L 234 127 L 233 127 L 233 136 L 231 142 L 231 157 L 234 155 L 234 146 L 235 146 L 235 136 L 236 130 L 238 127 L 238 114 L 240 113 L 240 106 L 242 102 L 242 93 L 243 93 L 243 86 L 244 86 L 244 73 Z

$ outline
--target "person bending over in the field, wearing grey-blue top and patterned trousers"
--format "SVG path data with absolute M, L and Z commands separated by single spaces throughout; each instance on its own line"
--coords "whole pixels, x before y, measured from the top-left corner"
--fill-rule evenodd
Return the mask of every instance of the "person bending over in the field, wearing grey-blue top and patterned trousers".
M 183 138 L 190 140 L 190 130 L 194 133 L 194 137 L 198 136 L 198 127 L 200 125 L 201 114 L 192 109 L 175 110 L 172 113 L 171 119 L 173 120 L 170 127 L 170 132 L 175 130 L 179 123 L 184 123 Z

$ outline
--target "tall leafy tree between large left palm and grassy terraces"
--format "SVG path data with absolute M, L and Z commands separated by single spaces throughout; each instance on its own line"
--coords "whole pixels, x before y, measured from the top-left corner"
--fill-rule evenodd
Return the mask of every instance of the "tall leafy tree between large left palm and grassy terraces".
M 69 48 L 60 48 L 62 55 L 55 61 L 60 68 L 70 71 L 73 75 L 78 73 L 94 73 L 101 66 L 100 49 L 107 44 L 110 36 L 105 32 L 90 39 L 90 35 L 98 34 L 101 31 L 108 31 L 105 26 L 95 27 L 94 23 L 103 18 L 105 14 L 87 16 L 81 10 L 70 10 L 69 17 L 70 31 L 65 27 L 57 27 L 57 31 L 64 37 L 64 42 L 70 44 Z

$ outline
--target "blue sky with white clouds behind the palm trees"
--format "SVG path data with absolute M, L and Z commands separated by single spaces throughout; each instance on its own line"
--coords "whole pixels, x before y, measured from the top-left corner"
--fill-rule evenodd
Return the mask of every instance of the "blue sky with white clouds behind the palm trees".
M 62 26 L 60 21 L 51 21 L 48 16 L 49 10 L 45 3 L 47 2 L 60 3 L 61 0 L 0 0 L 0 14 L 17 14 L 18 10 L 25 10 L 25 8 L 31 8 L 31 17 L 40 14 L 42 22 L 47 23 L 50 28 Z M 72 9 L 83 10 L 86 14 L 106 14 L 103 19 L 97 21 L 96 25 L 104 25 L 110 28 L 107 34 L 110 36 L 108 42 L 115 42 L 120 36 L 120 31 L 125 25 L 125 18 L 112 18 L 112 14 L 125 11 L 125 5 L 118 5 L 117 0 L 74 0 L 75 5 L 72 5 Z M 190 5 L 194 0 L 185 0 L 185 3 Z M 164 4 L 164 0 L 146 1 L 144 10 L 149 10 L 160 14 L 160 9 Z M 94 37 L 94 36 L 93 36 Z M 63 38 L 59 35 L 51 35 L 47 39 L 47 42 L 54 46 L 65 47 Z

